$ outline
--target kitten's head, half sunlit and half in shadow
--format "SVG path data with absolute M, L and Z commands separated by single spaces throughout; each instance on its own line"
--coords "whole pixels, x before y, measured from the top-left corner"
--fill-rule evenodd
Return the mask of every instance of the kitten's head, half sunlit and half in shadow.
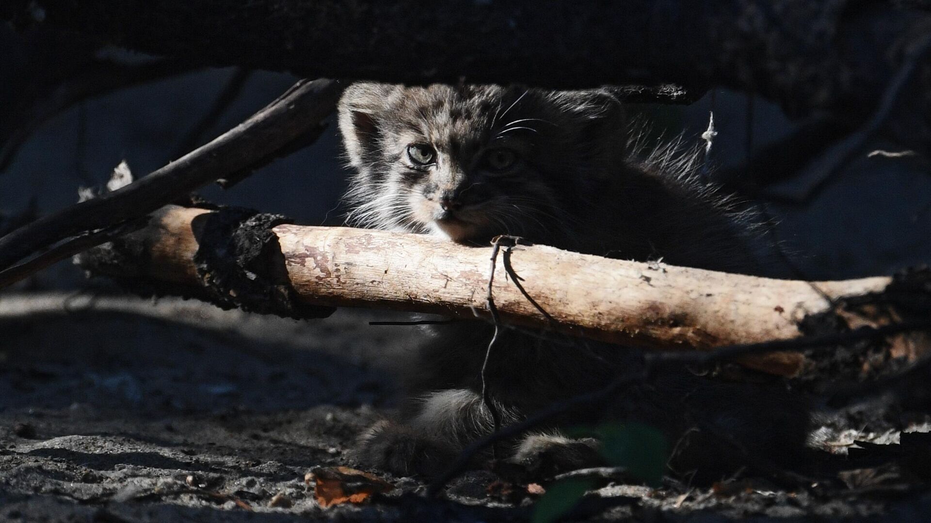
M 456 241 L 564 232 L 624 155 L 619 103 L 600 89 L 358 83 L 339 124 L 357 171 L 349 221 Z

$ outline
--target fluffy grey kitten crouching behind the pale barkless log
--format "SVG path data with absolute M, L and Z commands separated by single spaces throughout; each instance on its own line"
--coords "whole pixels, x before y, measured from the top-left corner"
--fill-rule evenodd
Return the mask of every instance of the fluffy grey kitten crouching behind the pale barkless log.
M 666 149 L 636 158 L 609 89 L 357 83 L 340 102 L 339 127 L 355 169 L 350 223 L 484 246 L 495 235 L 518 235 L 600 256 L 759 272 L 748 220 L 697 180 L 695 155 Z M 363 462 L 398 474 L 437 474 L 492 430 L 480 397 L 491 327 L 425 331 L 407 408 L 361 440 Z M 502 333 L 486 376 L 505 423 L 624 368 L 618 347 L 566 345 Z M 557 424 L 591 415 L 572 412 Z M 512 459 L 548 453 L 570 467 L 593 458 L 594 442 L 556 430 L 515 442 Z

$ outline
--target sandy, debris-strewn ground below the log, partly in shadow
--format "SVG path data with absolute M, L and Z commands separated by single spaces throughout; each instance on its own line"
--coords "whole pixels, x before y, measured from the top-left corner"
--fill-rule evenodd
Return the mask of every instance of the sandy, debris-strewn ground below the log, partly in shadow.
M 376 315 L 358 311 L 296 322 L 128 299 L 148 309 L 118 314 L 109 298 L 26 296 L 0 295 L 0 521 L 532 516 L 538 494 L 487 471 L 434 500 L 415 478 L 372 471 L 394 489 L 320 506 L 305 476 L 358 466 L 355 438 L 396 403 L 413 328 L 370 326 Z M 886 436 L 875 442 L 899 435 Z M 608 481 L 567 520 L 926 520 L 931 489 L 889 471 L 875 480 L 883 471 L 843 488 L 746 474 L 708 487 Z

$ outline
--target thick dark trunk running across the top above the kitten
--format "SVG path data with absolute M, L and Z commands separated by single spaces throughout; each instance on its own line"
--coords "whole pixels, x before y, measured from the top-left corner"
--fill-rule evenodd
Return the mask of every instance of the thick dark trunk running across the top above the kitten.
M 28 0 L 0 17 L 34 24 Z M 45 0 L 42 23 L 205 64 L 408 83 L 709 85 L 865 117 L 931 15 L 846 0 Z M 218 45 L 222 43 L 222 45 Z

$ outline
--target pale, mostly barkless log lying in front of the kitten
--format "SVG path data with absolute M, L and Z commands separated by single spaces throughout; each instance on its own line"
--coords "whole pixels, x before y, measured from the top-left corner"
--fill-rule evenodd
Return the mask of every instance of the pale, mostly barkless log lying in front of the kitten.
M 117 242 L 119 256 L 109 245 L 91 249 L 80 262 L 97 274 L 201 288 L 206 280 L 217 279 L 205 275 L 196 261 L 205 248 L 232 256 L 226 247 L 202 245 L 208 242 L 209 222 L 223 212 L 227 211 L 161 208 L 148 226 Z M 467 247 L 427 235 L 289 223 L 272 226 L 271 233 L 280 252 L 274 249 L 276 255 L 264 259 L 265 267 L 250 262 L 246 273 L 258 281 L 277 275 L 298 302 L 490 317 L 486 298 L 491 247 Z M 843 300 L 881 293 L 893 281 L 884 276 L 777 280 L 613 260 L 546 246 L 517 245 L 508 262 L 494 265 L 491 288 L 504 323 L 660 349 L 705 351 L 800 338 L 805 318 L 830 313 Z M 506 265 L 519 276 L 526 294 L 507 275 Z M 235 289 L 223 292 L 236 294 Z M 742 363 L 794 375 L 803 369 L 805 358 L 801 353 L 776 353 Z

